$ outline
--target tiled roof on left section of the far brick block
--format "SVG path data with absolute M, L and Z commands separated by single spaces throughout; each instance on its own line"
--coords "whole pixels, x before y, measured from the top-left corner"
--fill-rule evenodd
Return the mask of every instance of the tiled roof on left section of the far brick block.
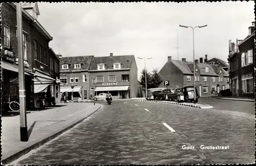
M 92 62 L 94 56 L 70 56 L 70 57 L 62 57 L 59 61 L 60 65 L 62 64 L 81 64 L 81 68 L 74 68 L 74 65 L 71 65 L 69 69 L 72 70 L 89 70 L 90 64 Z M 60 69 L 67 70 L 67 69 Z

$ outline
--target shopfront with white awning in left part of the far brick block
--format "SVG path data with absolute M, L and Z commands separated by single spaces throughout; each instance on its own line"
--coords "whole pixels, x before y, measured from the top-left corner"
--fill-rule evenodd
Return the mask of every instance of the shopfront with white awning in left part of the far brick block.
M 68 100 L 81 101 L 82 100 L 82 87 L 75 86 L 73 89 L 71 87 L 60 87 L 60 92 L 68 92 Z

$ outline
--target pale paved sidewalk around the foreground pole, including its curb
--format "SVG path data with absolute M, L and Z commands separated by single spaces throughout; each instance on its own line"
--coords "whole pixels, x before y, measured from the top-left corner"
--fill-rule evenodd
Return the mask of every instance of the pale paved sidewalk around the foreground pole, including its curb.
M 10 163 L 69 130 L 101 108 L 100 104 L 68 103 L 27 114 L 29 140 L 20 141 L 19 115 L 2 116 L 2 164 Z

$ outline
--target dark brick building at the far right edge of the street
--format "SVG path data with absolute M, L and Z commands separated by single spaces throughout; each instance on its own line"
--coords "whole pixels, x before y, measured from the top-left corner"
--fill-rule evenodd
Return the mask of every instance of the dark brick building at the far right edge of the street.
M 230 64 L 230 87 L 232 96 L 254 97 L 254 26 L 250 26 L 249 34 L 244 40 L 236 43 L 229 40 L 228 63 Z

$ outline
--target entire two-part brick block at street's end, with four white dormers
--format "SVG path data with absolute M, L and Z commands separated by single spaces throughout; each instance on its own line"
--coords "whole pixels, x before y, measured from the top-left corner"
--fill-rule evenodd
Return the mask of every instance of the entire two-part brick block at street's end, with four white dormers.
M 68 84 L 61 85 L 61 92 L 67 91 L 69 100 L 86 100 L 91 94 L 108 91 L 113 98 L 136 97 L 137 65 L 133 55 L 61 57 L 60 63 L 60 80 Z

